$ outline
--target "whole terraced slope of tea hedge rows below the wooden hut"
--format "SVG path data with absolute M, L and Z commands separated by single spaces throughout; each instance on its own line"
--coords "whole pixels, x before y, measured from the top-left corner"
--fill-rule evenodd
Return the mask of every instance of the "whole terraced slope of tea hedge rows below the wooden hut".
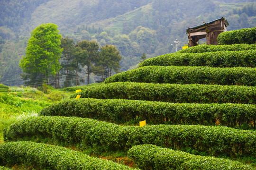
M 0 165 L 133 169 L 83 152 L 91 148 L 126 153 L 141 170 L 255 170 L 255 47 L 201 45 L 147 59 L 7 127 Z

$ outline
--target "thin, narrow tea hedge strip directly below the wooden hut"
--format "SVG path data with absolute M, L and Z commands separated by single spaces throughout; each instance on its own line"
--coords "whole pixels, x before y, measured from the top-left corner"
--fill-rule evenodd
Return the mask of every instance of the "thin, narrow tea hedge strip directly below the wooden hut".
M 201 53 L 215 51 L 245 51 L 256 49 L 256 44 L 231 44 L 231 45 L 197 45 L 177 53 Z

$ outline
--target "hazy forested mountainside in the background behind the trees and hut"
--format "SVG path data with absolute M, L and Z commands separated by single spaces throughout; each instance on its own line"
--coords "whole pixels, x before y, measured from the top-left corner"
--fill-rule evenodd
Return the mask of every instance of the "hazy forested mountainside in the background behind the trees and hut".
M 247 1 L 247 3 L 246 3 Z M 225 17 L 228 30 L 256 26 L 254 0 L 1 0 L 0 83 L 22 85 L 19 60 L 30 32 L 54 23 L 63 37 L 112 44 L 123 56 L 121 70 L 187 44 L 186 29 Z M 201 42 L 202 43 L 202 42 Z M 178 47 L 181 50 L 181 47 Z M 96 81 L 96 76 L 91 82 Z

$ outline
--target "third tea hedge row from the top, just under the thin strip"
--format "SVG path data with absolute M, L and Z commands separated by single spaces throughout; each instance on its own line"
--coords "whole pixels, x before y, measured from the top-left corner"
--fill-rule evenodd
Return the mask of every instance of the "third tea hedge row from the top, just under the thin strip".
M 256 67 L 256 50 L 170 53 L 146 59 L 143 66 Z

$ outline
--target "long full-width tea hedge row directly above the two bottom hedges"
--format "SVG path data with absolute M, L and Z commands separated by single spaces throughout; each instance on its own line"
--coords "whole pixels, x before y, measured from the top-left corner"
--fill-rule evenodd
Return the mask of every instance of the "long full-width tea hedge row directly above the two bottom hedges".
M 29 117 L 4 130 L 5 141 L 48 138 L 55 143 L 128 150 L 138 144 L 155 144 L 181 150 L 191 148 L 208 155 L 256 156 L 256 131 L 202 125 L 119 126 L 76 117 Z

